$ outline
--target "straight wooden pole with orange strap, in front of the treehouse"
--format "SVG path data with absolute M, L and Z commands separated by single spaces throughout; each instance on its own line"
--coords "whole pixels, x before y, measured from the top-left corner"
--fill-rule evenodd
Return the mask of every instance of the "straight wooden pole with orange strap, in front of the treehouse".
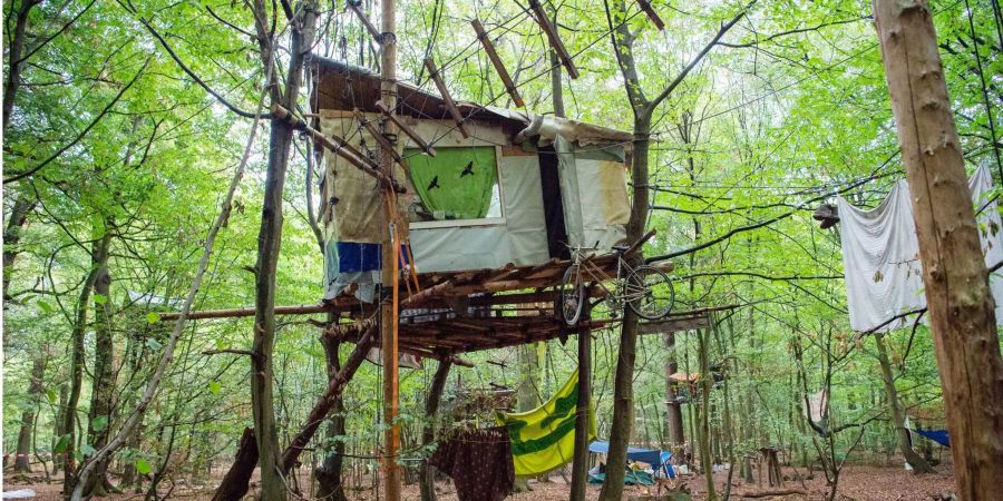
M 397 107 L 397 0 L 382 0 L 382 46 L 380 100 L 387 105 L 390 114 Z M 395 148 L 397 141 L 397 128 L 393 120 L 383 120 L 383 137 L 390 143 L 390 150 L 383 148 L 380 155 L 380 166 L 383 175 L 392 177 L 396 158 Z M 400 469 L 397 466 L 398 452 L 400 451 L 400 429 L 396 423 L 399 402 L 399 367 L 397 351 L 397 249 L 400 243 L 396 242 L 391 230 L 396 198 L 393 191 L 383 190 L 388 197 L 386 217 L 382 227 L 381 245 L 381 292 L 380 292 L 380 338 L 383 353 L 383 490 L 387 501 L 400 501 Z M 386 292 L 390 292 L 389 296 Z

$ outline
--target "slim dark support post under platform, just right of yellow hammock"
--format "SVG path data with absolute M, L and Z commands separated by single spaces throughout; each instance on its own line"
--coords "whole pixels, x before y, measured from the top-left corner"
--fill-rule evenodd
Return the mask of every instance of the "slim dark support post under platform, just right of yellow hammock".
M 592 287 L 586 291 L 591 296 Z M 588 299 L 583 305 L 585 320 L 592 318 Z M 588 431 L 591 430 L 588 407 L 592 404 L 592 330 L 587 326 L 578 331 L 578 402 L 575 409 L 575 452 L 572 462 L 571 500 L 585 499 L 588 483 Z

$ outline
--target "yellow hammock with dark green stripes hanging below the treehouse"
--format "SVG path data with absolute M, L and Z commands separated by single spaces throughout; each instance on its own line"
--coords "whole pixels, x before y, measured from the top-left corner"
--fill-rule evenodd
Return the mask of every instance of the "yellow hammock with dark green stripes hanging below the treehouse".
M 508 430 L 516 477 L 536 477 L 572 460 L 575 451 L 575 409 L 578 404 L 578 371 L 539 407 L 527 412 L 498 413 L 498 424 Z M 595 409 L 588 405 L 588 442 L 595 439 Z

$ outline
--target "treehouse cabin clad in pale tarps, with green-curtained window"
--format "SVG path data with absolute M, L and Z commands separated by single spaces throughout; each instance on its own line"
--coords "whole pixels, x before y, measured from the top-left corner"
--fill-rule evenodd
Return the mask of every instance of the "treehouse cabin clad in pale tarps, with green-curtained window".
M 379 76 L 313 60 L 314 128 L 374 158 L 382 139 L 371 127 L 382 115 Z M 418 136 L 401 132 L 397 140 L 395 179 L 405 191 L 398 220 L 407 222 L 421 276 L 541 266 L 568 257 L 568 246 L 606 254 L 624 243 L 631 134 L 454 104 L 407 84 L 398 85 L 398 100 L 397 120 Z M 351 287 L 371 302 L 384 212 L 380 183 L 330 149 L 324 166 L 325 299 Z

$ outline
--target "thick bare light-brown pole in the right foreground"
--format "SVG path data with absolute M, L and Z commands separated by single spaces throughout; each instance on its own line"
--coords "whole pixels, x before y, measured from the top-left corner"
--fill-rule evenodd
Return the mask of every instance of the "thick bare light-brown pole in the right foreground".
M 909 181 L 957 494 L 999 499 L 1003 358 L 961 143 L 926 0 L 874 0 Z

